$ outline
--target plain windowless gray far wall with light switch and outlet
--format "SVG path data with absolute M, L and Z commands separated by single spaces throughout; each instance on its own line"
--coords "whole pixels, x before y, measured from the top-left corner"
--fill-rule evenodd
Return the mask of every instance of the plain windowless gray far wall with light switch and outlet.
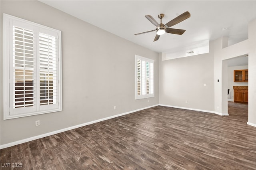
M 210 42 L 211 46 L 212 42 Z M 159 103 L 174 107 L 214 111 L 213 59 L 211 48 L 210 53 L 191 57 L 165 61 L 162 61 L 160 57 Z

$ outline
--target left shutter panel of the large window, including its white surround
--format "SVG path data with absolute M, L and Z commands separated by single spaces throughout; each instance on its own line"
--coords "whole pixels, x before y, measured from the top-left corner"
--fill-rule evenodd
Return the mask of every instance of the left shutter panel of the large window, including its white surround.
M 13 22 L 10 26 L 10 89 L 13 89 L 10 101 L 12 101 L 13 114 L 34 111 L 35 87 L 34 76 L 36 74 L 34 64 L 35 30 L 33 27 L 20 22 Z

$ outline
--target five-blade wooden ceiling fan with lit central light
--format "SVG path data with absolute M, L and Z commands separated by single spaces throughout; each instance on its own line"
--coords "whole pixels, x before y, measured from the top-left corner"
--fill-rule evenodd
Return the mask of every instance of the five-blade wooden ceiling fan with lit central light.
M 151 30 L 151 31 L 147 31 L 147 32 L 142 32 L 142 33 L 138 33 L 138 34 L 134 34 L 135 36 L 140 35 L 140 34 L 145 34 L 148 32 L 153 32 L 156 31 L 156 37 L 154 39 L 154 42 L 157 41 L 160 37 L 160 35 L 164 34 L 164 33 L 170 33 L 170 34 L 178 34 L 178 35 L 182 35 L 186 30 L 180 30 L 180 29 L 175 29 L 175 28 L 170 28 L 171 26 L 174 26 L 186 19 L 188 19 L 190 17 L 190 13 L 188 11 L 184 12 L 183 14 L 180 14 L 179 16 L 177 16 L 176 18 L 174 18 L 173 20 L 167 22 L 165 25 L 162 24 L 162 18 L 164 18 L 164 14 L 159 14 L 158 18 L 160 19 L 160 24 L 158 24 L 158 22 L 156 22 L 156 20 L 150 16 L 150 15 L 146 15 L 145 16 L 152 24 L 154 24 L 156 26 L 156 30 Z

